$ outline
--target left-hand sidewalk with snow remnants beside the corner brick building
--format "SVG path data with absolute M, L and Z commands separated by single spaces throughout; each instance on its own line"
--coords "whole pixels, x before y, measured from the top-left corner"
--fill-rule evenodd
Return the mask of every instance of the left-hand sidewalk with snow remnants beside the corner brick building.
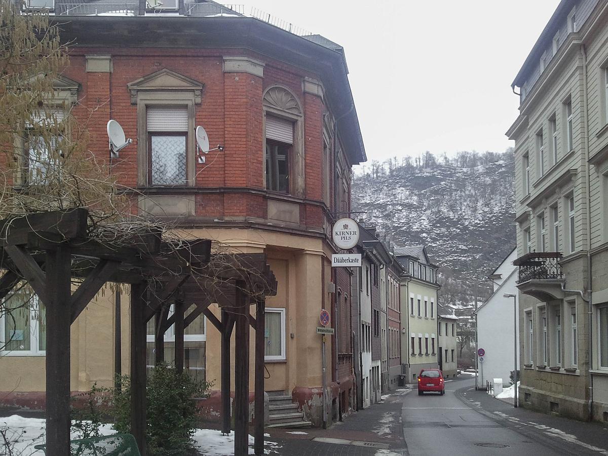
M 270 454 L 282 456 L 402 456 L 407 454 L 403 440 L 401 389 L 382 396 L 385 399 L 365 410 L 353 412 L 330 429 L 267 429 L 277 443 Z

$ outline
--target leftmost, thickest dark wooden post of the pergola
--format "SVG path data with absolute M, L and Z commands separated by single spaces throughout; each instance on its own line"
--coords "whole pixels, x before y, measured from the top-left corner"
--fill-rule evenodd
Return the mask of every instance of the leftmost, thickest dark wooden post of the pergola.
M 71 257 L 46 253 L 46 452 L 70 454 Z

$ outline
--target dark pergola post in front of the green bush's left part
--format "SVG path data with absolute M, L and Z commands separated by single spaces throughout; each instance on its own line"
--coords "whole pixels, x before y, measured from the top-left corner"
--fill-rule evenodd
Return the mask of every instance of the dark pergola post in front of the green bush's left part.
M 131 434 L 142 456 L 146 456 L 146 292 L 146 283 L 131 285 Z

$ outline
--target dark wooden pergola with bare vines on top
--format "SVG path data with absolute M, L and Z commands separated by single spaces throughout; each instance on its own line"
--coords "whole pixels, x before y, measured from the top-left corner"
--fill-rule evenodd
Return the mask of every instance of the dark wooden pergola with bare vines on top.
M 174 325 L 175 368 L 184 368 L 184 329 L 200 314 L 221 333 L 223 432 L 230 432 L 230 338 L 235 330 L 235 455 L 248 453 L 249 326 L 255 330 L 255 454 L 264 446 L 264 300 L 277 282 L 264 254 L 211 257 L 211 241 L 167 243 L 149 229 L 91 238 L 88 211 L 32 213 L 0 221 L 0 299 L 25 280 L 46 306 L 47 454 L 69 454 L 70 326 L 106 282 L 131 286 L 131 432 L 146 454 L 146 334 L 154 317 L 156 361 Z M 111 239 L 111 240 L 110 240 Z M 72 278 L 82 282 L 72 292 Z M 218 303 L 221 319 L 209 305 Z M 168 308 L 174 313 L 168 317 Z M 249 306 L 255 305 L 255 317 Z M 195 305 L 187 316 L 185 311 Z

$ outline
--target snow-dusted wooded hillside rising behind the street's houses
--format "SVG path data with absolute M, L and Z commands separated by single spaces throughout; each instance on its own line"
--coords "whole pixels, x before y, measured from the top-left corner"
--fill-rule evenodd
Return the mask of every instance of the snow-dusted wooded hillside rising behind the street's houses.
M 353 181 L 353 210 L 366 222 L 397 245 L 426 244 L 441 267 L 444 303 L 470 302 L 472 280 L 515 245 L 513 155 L 497 155 L 473 167 L 381 168 Z

